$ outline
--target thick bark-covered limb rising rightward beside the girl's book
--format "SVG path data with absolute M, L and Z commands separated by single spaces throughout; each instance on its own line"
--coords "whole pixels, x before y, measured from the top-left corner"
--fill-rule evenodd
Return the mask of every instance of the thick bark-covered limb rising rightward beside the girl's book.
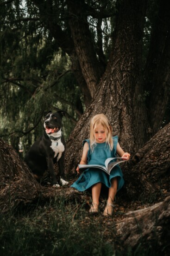
M 131 199 L 153 201 L 170 191 L 170 124 L 158 131 L 133 159 L 124 168 L 126 192 Z

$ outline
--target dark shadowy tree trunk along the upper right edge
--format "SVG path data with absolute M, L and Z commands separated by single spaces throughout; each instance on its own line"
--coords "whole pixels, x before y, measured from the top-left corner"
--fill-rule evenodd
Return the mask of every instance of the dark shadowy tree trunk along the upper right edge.
M 145 90 L 149 92 L 148 118 L 153 136 L 162 126 L 170 99 L 170 2 L 160 1 L 160 9 L 151 33 L 145 71 Z M 169 117 L 168 117 L 169 119 Z

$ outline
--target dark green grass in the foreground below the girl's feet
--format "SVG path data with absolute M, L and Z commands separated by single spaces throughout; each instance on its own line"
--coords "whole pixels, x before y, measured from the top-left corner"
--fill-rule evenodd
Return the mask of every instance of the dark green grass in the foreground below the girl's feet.
M 159 255 L 157 246 L 154 250 L 142 243 L 133 250 L 122 248 L 114 217 L 90 216 L 86 202 L 67 202 L 63 197 L 30 205 L 0 216 L 0 256 Z

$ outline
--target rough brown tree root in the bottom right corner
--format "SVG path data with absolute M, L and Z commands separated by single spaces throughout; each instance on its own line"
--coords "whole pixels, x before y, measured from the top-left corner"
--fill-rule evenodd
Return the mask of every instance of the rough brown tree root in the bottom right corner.
M 115 222 L 116 239 L 126 248 L 141 245 L 157 246 L 158 251 L 170 252 L 170 196 L 164 202 L 149 208 L 128 212 L 125 218 Z M 167 254 L 168 255 L 168 254 Z

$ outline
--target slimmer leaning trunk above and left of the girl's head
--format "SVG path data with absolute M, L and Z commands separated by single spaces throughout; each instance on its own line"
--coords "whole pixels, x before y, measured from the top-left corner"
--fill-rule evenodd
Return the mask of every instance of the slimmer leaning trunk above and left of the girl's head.
M 87 15 L 82 12 L 84 0 L 68 1 L 72 39 L 80 62 L 83 77 L 87 83 L 91 98 L 94 97 L 101 78 L 101 68 L 92 45 Z

